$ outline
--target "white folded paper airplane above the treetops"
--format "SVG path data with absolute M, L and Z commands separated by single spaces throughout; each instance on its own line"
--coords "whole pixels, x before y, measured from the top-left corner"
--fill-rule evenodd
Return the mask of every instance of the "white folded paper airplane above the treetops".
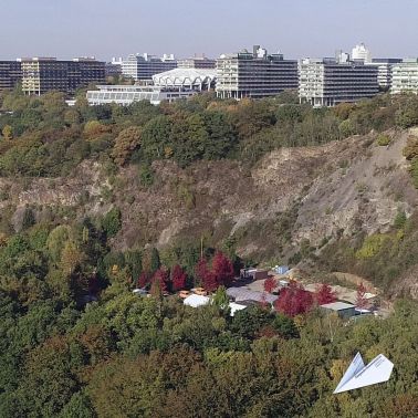
M 362 355 L 357 353 L 334 390 L 334 394 L 387 382 L 389 380 L 393 368 L 394 364 L 383 354 L 379 354 L 365 366 Z

